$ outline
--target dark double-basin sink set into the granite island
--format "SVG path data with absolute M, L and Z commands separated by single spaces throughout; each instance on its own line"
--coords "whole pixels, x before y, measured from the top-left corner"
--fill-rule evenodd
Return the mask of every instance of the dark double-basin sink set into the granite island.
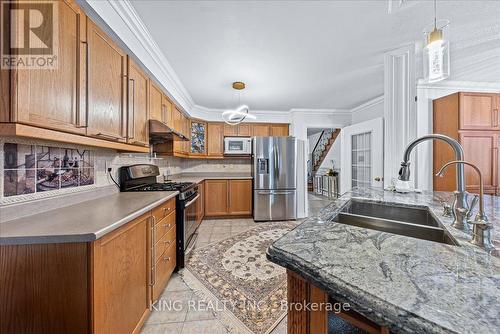
M 351 199 L 334 221 L 371 230 L 458 246 L 427 208 Z

